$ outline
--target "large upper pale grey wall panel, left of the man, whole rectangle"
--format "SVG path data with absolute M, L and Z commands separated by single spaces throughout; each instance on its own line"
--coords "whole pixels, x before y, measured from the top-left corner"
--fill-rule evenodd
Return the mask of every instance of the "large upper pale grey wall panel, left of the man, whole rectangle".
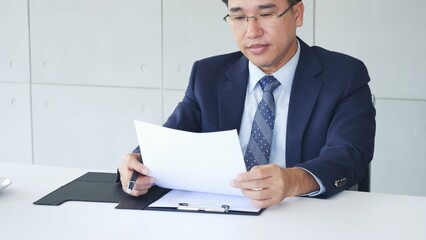
M 161 1 L 32 0 L 34 83 L 161 88 Z

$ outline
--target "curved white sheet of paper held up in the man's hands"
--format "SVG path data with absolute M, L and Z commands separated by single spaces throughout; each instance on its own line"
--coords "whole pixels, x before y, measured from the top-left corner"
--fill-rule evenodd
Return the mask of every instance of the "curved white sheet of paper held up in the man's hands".
M 160 187 L 242 196 L 230 181 L 245 172 L 236 130 L 192 133 L 135 121 L 144 164 Z

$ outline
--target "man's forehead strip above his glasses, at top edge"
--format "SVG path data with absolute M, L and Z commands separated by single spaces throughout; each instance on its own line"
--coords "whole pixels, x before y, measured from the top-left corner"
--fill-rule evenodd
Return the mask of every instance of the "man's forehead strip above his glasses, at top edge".
M 228 8 L 231 12 L 273 9 L 282 6 L 285 2 L 287 0 L 229 0 Z

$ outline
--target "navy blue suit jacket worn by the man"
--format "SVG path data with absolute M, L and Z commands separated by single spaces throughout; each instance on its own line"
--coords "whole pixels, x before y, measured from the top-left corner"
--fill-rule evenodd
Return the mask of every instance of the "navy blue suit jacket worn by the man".
M 361 61 L 299 42 L 286 164 L 321 179 L 327 197 L 357 184 L 366 173 L 373 157 L 375 109 Z M 164 126 L 192 132 L 239 130 L 248 74 L 241 52 L 195 62 L 185 97 Z

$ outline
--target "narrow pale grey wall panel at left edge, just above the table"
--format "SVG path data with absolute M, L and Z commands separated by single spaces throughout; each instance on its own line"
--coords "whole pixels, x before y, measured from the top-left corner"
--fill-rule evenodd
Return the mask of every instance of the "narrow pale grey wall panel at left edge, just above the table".
M 30 87 L 0 83 L 0 161 L 32 163 Z

